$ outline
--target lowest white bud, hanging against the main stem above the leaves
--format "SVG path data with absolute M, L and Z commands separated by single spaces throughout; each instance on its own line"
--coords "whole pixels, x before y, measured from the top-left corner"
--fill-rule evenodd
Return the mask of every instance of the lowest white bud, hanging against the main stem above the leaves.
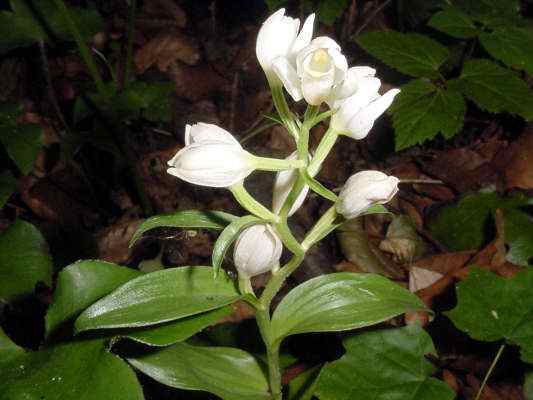
M 283 245 L 268 224 L 252 225 L 241 232 L 233 250 L 233 261 L 244 278 L 279 267 Z

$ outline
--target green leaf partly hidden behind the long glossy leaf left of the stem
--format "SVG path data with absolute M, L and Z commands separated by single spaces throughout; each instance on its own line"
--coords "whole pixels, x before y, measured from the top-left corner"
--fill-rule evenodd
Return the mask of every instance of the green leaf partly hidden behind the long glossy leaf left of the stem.
M 139 275 L 139 271 L 99 260 L 82 260 L 69 265 L 57 278 L 54 302 L 45 318 L 46 336 L 96 300 Z

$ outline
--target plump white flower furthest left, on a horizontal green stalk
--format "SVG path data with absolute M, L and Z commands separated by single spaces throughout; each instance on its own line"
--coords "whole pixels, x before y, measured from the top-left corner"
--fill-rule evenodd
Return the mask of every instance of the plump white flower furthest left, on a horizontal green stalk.
M 229 132 L 216 125 L 187 125 L 185 144 L 168 161 L 167 172 L 189 183 L 229 187 L 254 170 L 253 156 Z

